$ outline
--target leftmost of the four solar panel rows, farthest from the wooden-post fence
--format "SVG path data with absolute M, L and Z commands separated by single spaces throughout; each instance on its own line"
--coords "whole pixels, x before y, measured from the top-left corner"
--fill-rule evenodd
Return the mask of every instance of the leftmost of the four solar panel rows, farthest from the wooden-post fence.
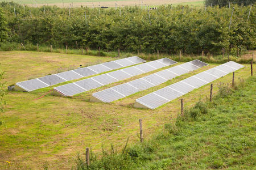
M 23 90 L 30 92 L 33 90 L 37 90 L 39 88 L 53 86 L 55 84 L 67 82 L 69 80 L 75 80 L 75 79 L 83 78 L 85 76 L 99 74 L 105 71 L 115 70 L 115 69 L 135 65 L 142 62 L 146 62 L 146 61 L 137 56 L 117 59 L 115 61 L 105 62 L 98 65 L 82 67 L 75 70 L 65 71 L 63 73 L 43 76 L 42 78 L 36 78 L 36 79 L 26 80 L 24 82 L 18 82 L 16 83 L 16 86 L 19 86 L 23 88 Z

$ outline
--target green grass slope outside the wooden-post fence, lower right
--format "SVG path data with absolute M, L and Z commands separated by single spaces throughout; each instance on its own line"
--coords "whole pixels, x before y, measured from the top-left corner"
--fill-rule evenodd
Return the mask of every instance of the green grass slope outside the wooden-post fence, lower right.
M 92 155 L 77 169 L 254 169 L 256 78 L 222 86 L 212 103 L 199 101 L 175 123 L 123 154 Z

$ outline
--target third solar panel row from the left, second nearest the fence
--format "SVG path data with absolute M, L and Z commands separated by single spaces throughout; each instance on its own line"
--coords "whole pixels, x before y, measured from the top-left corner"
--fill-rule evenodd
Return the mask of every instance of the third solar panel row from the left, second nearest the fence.
M 183 63 L 181 65 L 171 67 L 170 69 L 162 70 L 157 73 L 144 76 L 143 78 L 96 92 L 92 94 L 91 101 L 96 101 L 93 98 L 96 97 L 96 99 L 98 99 L 97 101 L 110 103 L 114 100 L 135 94 L 136 92 L 146 90 L 147 88 L 158 86 L 159 84 L 167 82 L 167 80 L 173 79 L 176 76 L 207 65 L 207 63 L 201 62 L 198 59 Z

